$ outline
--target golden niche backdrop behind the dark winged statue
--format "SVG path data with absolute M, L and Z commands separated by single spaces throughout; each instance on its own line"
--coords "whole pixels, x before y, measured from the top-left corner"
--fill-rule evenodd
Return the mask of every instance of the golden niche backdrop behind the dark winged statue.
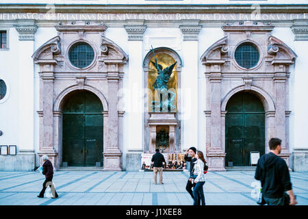
M 163 69 L 175 63 L 175 60 L 172 58 L 172 56 L 165 54 L 165 53 L 155 54 L 155 57 L 157 58 L 157 63 L 162 65 Z M 155 82 L 155 79 L 157 77 L 157 69 L 152 64 L 152 62 L 155 62 L 155 57 L 153 56 L 149 62 L 149 75 L 148 75 L 149 112 L 153 112 L 151 102 L 155 100 L 155 92 L 153 88 L 153 83 Z M 177 64 L 175 64 L 175 67 L 172 70 L 172 74 L 170 75 L 170 79 L 167 83 L 167 89 L 169 90 L 171 88 L 175 90 L 175 108 L 177 109 Z M 152 99 L 150 98 L 151 96 L 152 96 Z

